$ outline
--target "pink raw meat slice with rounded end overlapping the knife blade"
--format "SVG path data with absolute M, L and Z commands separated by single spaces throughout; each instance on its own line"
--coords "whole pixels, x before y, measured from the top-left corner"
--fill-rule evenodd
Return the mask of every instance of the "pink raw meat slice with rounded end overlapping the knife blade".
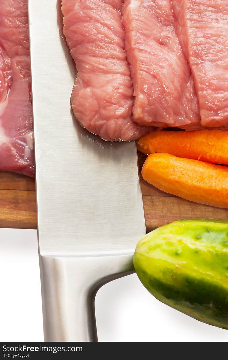
M 132 120 L 121 5 L 122 0 L 62 0 L 63 32 L 78 71 L 73 112 L 82 126 L 111 141 L 134 140 L 150 130 Z

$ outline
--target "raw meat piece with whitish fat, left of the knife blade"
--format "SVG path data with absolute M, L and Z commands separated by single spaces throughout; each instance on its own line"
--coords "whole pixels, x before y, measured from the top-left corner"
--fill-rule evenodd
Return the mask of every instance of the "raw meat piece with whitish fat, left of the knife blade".
M 0 170 L 34 176 L 27 0 L 0 1 Z

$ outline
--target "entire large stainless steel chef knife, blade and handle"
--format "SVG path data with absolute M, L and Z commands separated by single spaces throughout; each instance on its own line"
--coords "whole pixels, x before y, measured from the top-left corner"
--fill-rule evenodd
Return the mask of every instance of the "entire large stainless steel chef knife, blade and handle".
M 95 294 L 133 272 L 146 233 L 137 151 L 75 121 L 61 1 L 28 3 L 44 339 L 97 341 Z

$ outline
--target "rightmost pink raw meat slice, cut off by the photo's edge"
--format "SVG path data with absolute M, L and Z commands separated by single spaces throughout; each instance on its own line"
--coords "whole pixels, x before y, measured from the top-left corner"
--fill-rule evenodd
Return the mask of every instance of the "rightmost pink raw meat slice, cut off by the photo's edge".
M 228 123 L 228 1 L 174 0 L 176 31 L 191 67 L 202 126 Z

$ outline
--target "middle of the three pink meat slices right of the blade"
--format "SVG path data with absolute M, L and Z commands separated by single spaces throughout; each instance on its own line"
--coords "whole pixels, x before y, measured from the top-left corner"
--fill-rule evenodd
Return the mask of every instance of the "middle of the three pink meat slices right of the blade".
M 198 127 L 195 87 L 174 30 L 171 0 L 125 0 L 125 49 L 141 125 Z

